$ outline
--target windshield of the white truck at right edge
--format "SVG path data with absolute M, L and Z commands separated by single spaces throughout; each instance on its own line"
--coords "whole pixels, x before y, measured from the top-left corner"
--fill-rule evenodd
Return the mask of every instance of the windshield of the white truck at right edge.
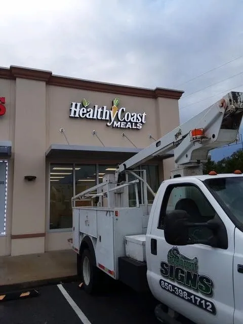
M 207 179 L 205 182 L 221 206 L 243 225 L 243 177 Z

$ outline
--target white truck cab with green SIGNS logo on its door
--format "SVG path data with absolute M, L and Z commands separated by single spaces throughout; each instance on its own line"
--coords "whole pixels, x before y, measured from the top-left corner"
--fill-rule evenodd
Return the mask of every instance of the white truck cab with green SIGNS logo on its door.
M 212 173 L 166 180 L 154 199 L 148 285 L 195 323 L 243 322 L 242 197 L 243 175 Z

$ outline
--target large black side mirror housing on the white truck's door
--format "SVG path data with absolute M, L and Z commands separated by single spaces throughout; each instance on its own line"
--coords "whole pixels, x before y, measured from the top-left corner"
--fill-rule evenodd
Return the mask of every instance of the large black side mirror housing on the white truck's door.
M 188 223 L 190 216 L 182 210 L 174 210 L 166 213 L 164 221 L 165 239 L 170 245 L 189 244 Z

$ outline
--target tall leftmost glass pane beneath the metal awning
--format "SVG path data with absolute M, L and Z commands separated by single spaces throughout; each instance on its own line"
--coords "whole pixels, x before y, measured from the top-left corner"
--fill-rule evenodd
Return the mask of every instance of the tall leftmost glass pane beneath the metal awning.
M 73 166 L 50 168 L 50 229 L 72 227 Z

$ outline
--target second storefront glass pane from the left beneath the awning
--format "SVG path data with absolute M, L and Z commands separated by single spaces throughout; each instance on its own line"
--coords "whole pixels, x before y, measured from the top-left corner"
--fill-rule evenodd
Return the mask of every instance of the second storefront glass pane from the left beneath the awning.
M 95 165 L 75 165 L 75 195 L 94 187 L 96 182 Z M 91 193 L 96 193 L 96 190 Z M 76 200 L 75 206 L 91 206 L 90 199 Z

